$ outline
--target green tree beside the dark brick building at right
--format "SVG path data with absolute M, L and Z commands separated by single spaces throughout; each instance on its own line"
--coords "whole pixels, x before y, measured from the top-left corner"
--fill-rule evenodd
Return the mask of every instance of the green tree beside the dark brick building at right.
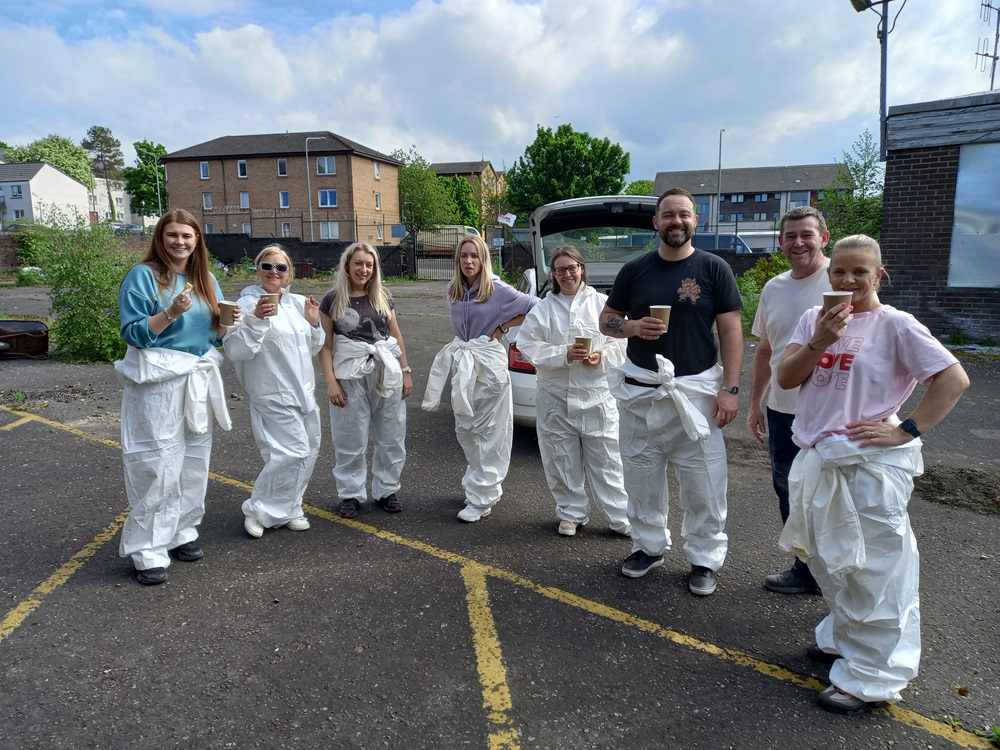
M 837 176 L 823 187 L 819 209 L 826 215 L 830 241 L 852 234 L 882 236 L 882 188 L 885 169 L 879 161 L 878 144 L 866 130 L 837 162 Z

